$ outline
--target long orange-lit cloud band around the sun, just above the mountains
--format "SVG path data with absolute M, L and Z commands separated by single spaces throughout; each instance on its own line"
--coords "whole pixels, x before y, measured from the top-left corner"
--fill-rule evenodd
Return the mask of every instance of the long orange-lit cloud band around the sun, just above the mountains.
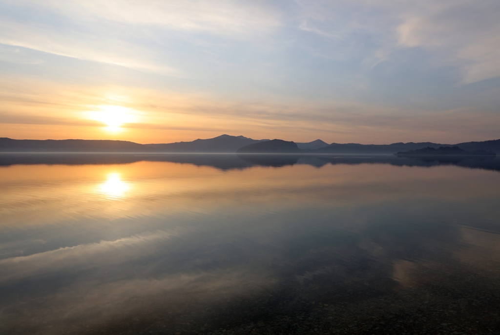
M 255 138 L 265 138 L 265 134 L 272 133 L 295 141 L 301 140 L 297 138 L 299 134 L 311 139 L 322 137 L 328 142 L 383 144 L 431 140 L 453 143 L 496 138 L 500 123 L 500 116 L 494 110 L 481 109 L 473 103 L 460 108 L 405 107 L 401 110 L 399 106 L 355 100 L 229 100 L 208 94 L 124 86 L 62 86 L 8 77 L 0 80 L 0 93 L 4 97 L 0 124 L 9 124 L 8 127 L 18 123 L 98 129 L 102 124 L 86 115 L 103 105 L 122 105 L 139 111 L 140 120 L 125 124 L 128 129 L 203 131 L 213 132 L 214 136 L 237 132 Z M 19 136 L 29 138 L 26 134 L 14 138 Z M 123 139 L 134 140 L 128 136 Z M 200 137 L 199 133 L 192 136 L 196 137 L 181 139 Z M 177 140 L 180 139 L 151 137 L 140 142 Z

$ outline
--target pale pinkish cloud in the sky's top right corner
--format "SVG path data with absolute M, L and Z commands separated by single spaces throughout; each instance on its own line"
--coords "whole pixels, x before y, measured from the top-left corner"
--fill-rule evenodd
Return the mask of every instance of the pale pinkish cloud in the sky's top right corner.
M 425 47 L 459 66 L 462 83 L 500 76 L 500 3 L 419 1 L 401 13 L 399 45 Z

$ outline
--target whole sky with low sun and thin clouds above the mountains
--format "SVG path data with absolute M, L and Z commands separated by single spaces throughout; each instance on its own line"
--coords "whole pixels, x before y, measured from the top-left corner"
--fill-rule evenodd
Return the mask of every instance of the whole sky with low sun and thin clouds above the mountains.
M 498 0 L 0 0 L 0 137 L 500 138 Z

